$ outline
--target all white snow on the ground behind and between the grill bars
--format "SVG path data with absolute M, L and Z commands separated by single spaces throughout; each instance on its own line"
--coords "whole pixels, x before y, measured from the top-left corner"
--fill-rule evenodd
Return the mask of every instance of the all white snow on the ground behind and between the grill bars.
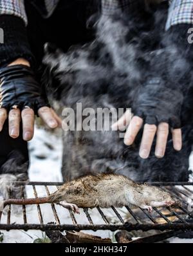
M 31 158 L 31 166 L 30 166 L 30 181 L 39 181 L 39 182 L 61 182 L 62 175 L 60 173 L 60 168 L 62 164 L 62 140 L 61 136 L 57 136 L 52 134 L 44 129 L 35 129 L 35 137 L 32 142 L 30 142 L 30 158 Z M 190 168 L 193 169 L 193 155 L 190 157 Z M 39 196 L 46 196 L 46 190 L 44 187 L 36 186 L 37 193 Z M 50 192 L 55 191 L 56 187 L 49 187 Z M 26 189 L 27 197 L 34 197 L 32 188 Z M 69 216 L 69 211 L 56 206 L 57 212 L 59 214 L 59 219 L 61 224 L 72 224 L 71 218 Z M 21 206 L 15 206 L 14 212 L 12 214 L 11 223 L 17 222 L 19 224 L 23 224 L 23 215 L 21 214 Z M 42 218 L 44 223 L 47 222 L 55 222 L 53 217 L 53 212 L 51 210 L 50 205 L 42 205 Z M 36 206 L 27 206 L 27 220 L 28 223 L 31 224 L 39 224 L 39 219 L 37 216 L 37 207 Z M 101 219 L 100 215 L 98 215 L 98 211 L 96 209 L 89 210 L 91 213 L 92 219 L 94 220 L 94 224 L 102 224 L 104 223 Z M 119 223 L 117 219 L 113 219 L 112 212 L 108 209 L 104 210 L 104 213 L 109 218 L 112 218 L 113 222 Z M 119 213 L 124 217 L 124 211 L 120 210 Z M 81 211 L 80 215 L 76 215 L 77 222 L 80 224 L 89 224 L 86 219 L 85 214 Z M 3 215 L 2 223 L 6 223 L 6 214 Z M 31 243 L 33 240 L 37 238 L 42 238 L 41 231 L 30 230 L 26 231 L 3 231 L 4 233 L 4 243 Z M 97 232 L 88 232 L 93 233 L 94 235 L 99 235 L 101 237 L 112 237 L 112 233 L 109 231 L 97 231 Z M 171 243 L 179 242 L 190 242 L 191 239 L 170 239 Z

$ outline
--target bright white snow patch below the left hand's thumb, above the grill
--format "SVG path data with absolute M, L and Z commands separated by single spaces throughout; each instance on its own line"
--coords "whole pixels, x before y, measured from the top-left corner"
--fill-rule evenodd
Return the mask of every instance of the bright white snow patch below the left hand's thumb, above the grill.
M 30 181 L 62 182 L 62 139 L 44 129 L 35 129 L 29 145 Z

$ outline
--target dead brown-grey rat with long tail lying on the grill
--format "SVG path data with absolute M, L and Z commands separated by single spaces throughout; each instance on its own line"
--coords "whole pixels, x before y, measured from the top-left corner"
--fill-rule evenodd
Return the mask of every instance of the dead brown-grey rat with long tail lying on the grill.
M 178 205 L 179 201 L 159 187 L 136 184 L 123 175 L 100 174 L 67 182 L 49 197 L 8 199 L 4 201 L 3 206 L 46 203 L 60 204 L 75 213 L 80 213 L 78 208 L 122 208 L 130 204 L 151 212 L 152 207 Z

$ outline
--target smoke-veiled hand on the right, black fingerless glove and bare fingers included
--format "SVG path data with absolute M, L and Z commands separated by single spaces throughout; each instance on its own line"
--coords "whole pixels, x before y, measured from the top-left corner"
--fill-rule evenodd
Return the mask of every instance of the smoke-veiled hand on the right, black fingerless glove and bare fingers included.
M 178 89 L 170 89 L 170 84 L 160 78 L 149 78 L 140 87 L 134 99 L 133 118 L 128 112 L 113 125 L 113 129 L 127 124 L 124 143 L 132 145 L 140 129 L 143 128 L 140 156 L 149 157 L 152 143 L 156 136 L 155 155 L 163 158 L 167 146 L 169 131 L 172 133 L 173 145 L 176 151 L 182 147 L 181 106 L 183 93 Z M 130 116 L 130 117 L 129 117 Z

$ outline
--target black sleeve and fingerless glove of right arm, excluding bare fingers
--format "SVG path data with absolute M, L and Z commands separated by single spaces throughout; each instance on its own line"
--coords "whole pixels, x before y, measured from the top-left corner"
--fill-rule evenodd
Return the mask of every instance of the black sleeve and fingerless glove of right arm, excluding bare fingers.
M 188 27 L 170 28 L 163 36 L 160 50 L 148 53 L 145 83 L 133 103 L 134 115 L 145 123 L 166 122 L 174 129 L 181 127 L 181 110 L 193 81 L 193 48 L 187 40 Z

